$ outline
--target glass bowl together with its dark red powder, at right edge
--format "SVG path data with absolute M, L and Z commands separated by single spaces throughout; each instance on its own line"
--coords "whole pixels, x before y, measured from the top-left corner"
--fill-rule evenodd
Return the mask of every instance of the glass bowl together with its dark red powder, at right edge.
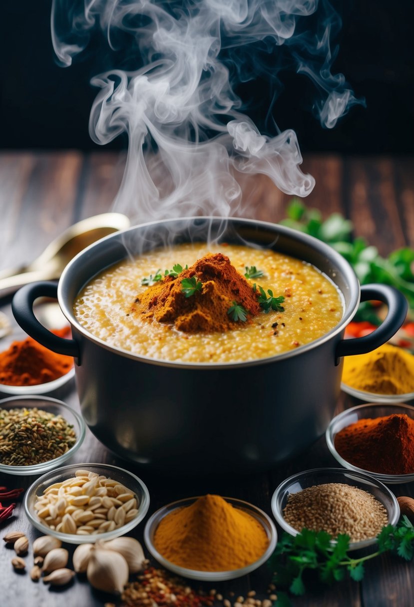
M 348 470 L 385 484 L 414 481 L 414 407 L 367 403 L 339 413 L 326 432 L 328 449 Z

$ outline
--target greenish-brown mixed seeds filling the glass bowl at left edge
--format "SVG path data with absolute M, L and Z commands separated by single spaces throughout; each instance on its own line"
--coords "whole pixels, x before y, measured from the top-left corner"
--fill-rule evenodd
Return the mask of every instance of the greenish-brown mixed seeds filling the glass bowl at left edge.
M 63 455 L 76 442 L 73 426 L 41 409 L 0 409 L 0 463 L 33 466 Z M 0 496 L 1 497 L 1 496 Z

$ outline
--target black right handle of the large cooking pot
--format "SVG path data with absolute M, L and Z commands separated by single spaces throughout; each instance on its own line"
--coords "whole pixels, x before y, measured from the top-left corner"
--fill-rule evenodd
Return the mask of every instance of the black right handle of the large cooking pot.
M 400 291 L 389 285 L 364 285 L 361 287 L 361 302 L 379 300 L 387 304 L 388 313 L 381 326 L 364 337 L 342 339 L 336 347 L 336 360 L 341 356 L 366 354 L 385 344 L 406 320 L 408 304 Z

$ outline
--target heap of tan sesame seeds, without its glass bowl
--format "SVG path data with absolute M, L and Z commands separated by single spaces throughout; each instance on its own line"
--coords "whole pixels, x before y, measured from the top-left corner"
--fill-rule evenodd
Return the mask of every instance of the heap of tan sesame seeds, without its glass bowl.
M 290 493 L 283 517 L 297 531 L 306 527 L 332 537 L 347 534 L 351 541 L 376 537 L 388 524 L 387 510 L 371 493 L 344 483 Z

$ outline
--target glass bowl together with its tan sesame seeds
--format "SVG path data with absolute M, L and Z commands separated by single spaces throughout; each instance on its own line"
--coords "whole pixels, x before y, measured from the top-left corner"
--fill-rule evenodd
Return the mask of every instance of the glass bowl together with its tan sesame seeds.
M 373 476 L 342 468 L 290 476 L 273 493 L 271 508 L 289 534 L 307 528 L 325 531 L 333 541 L 347 534 L 349 550 L 372 546 L 382 527 L 395 525 L 399 518 L 398 501 L 388 487 Z

